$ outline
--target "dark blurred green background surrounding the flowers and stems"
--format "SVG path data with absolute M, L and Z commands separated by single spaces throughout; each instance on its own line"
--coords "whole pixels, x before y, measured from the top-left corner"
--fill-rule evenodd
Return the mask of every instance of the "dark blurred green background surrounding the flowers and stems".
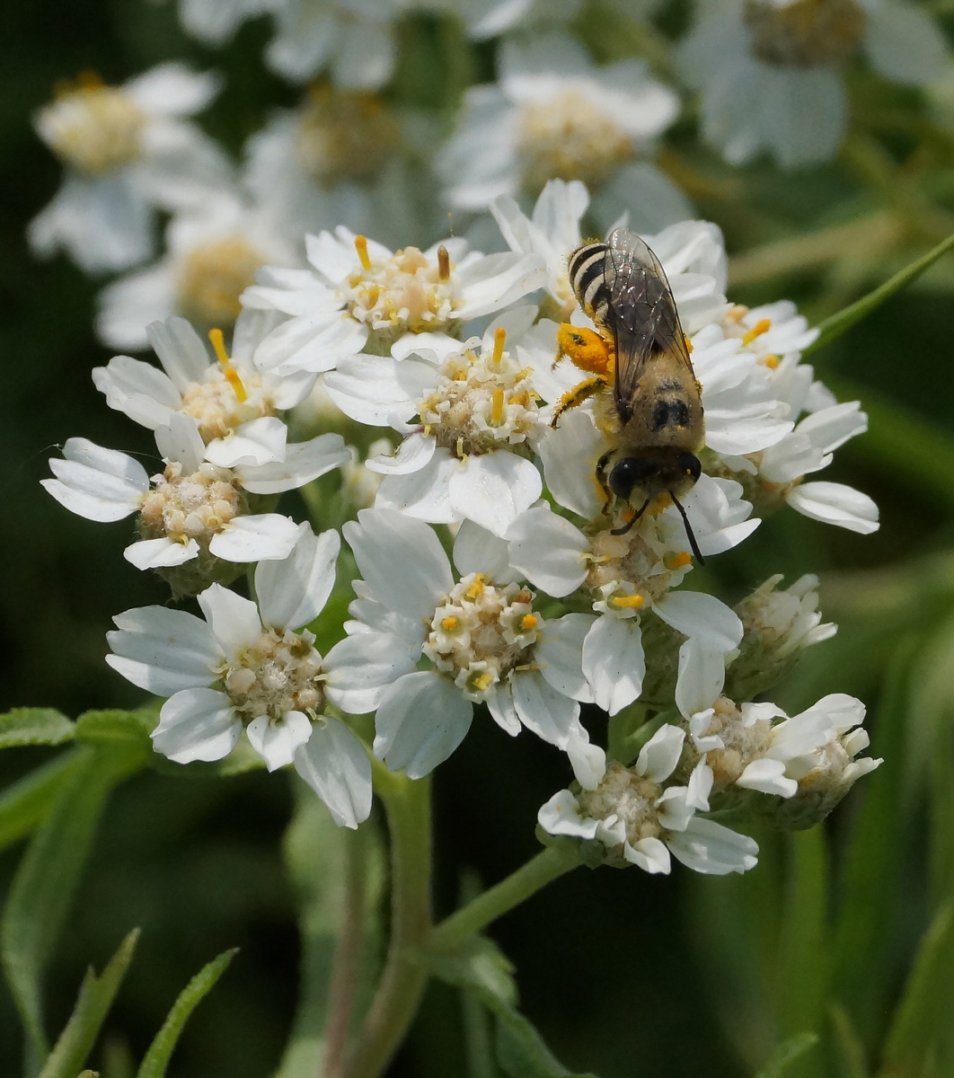
M 675 4 L 663 29 L 677 31 L 685 20 L 685 6 Z M 70 436 L 143 454 L 149 437 L 108 410 L 89 379 L 91 369 L 109 358 L 91 328 L 97 284 L 65 259 L 38 263 L 26 248 L 25 225 L 59 180 L 30 116 L 58 79 L 80 70 L 121 82 L 158 60 L 183 58 L 224 73 L 226 89 L 203 123 L 237 151 L 271 107 L 290 103 L 296 93 L 263 68 L 268 27 L 261 19 L 221 53 L 182 36 L 170 6 L 138 0 L 14 3 L 4 22 L 0 710 L 49 705 L 75 717 L 91 707 L 141 701 L 103 664 L 105 633 L 112 614 L 164 603 L 166 593 L 157 579 L 123 561 L 125 524 L 73 516 L 39 486 L 46 458 Z M 423 57 L 438 72 L 437 81 L 424 84 L 411 75 L 402 83 L 399 74 L 401 92 L 425 106 L 443 93 L 437 26 L 417 17 L 403 36 L 415 57 L 404 70 L 419 70 Z M 597 55 L 600 49 L 606 55 L 609 46 L 592 26 L 582 20 L 581 32 Z M 487 77 L 490 46 L 474 49 L 471 58 L 475 77 Z M 853 78 L 869 112 L 890 107 L 923 114 L 909 92 L 871 85 L 860 72 Z M 898 188 L 879 185 L 857 154 L 797 176 L 769 166 L 733 171 L 696 148 L 693 129 L 687 110 L 672 141 L 701 178 L 695 193 L 707 197 L 699 198 L 700 216 L 722 224 L 730 251 L 744 253 L 743 279 L 731 291 L 736 301 L 788 296 L 808 313 L 829 314 L 926 250 L 954 222 L 954 132 L 929 140 L 918 138 L 916 125 L 887 134 L 869 128 L 862 148 L 873 147 L 883 177 L 895 169 L 897 183 L 910 182 L 920 197 L 934 201 L 930 220 L 927 213 L 905 219 L 903 239 L 888 250 L 834 245 L 822 258 L 786 261 L 790 237 L 872 212 L 900 212 Z M 928 167 L 912 171 L 917 155 L 928 156 Z M 777 241 L 782 246 L 771 246 Z M 762 862 L 747 879 L 706 880 L 678 869 L 670 879 L 578 870 L 496 925 L 492 935 L 516 965 L 525 1012 L 571 1069 L 603 1078 L 736 1078 L 753 1074 L 792 1033 L 814 1026 L 837 1037 L 847 1014 L 851 1036 L 825 1059 L 807 1056 L 804 1073 L 876 1073 L 918 940 L 954 898 L 952 263 L 949 257 L 813 358 L 842 399 L 861 396 L 872 418 L 871 431 L 841 450 L 824 478 L 872 495 L 882 529 L 862 538 L 786 511 L 707 570 L 718 575 L 710 585 L 730 602 L 776 571 L 787 582 L 804 571 L 821 575 L 822 609 L 841 632 L 807 653 L 778 700 L 799 708 L 827 692 L 859 695 L 869 705 L 872 754 L 887 762 L 824 832 L 760 834 Z M 0 754 L 0 788 L 56 751 Z M 566 779 L 555 750 L 529 737 L 511 741 L 492 723 L 475 721 L 434 776 L 439 911 L 454 907 L 467 873 L 493 883 L 536 852 L 537 808 Z M 286 776 L 148 773 L 123 785 L 107 807 L 52 966 L 51 1032 L 66 1021 L 85 967 L 101 968 L 138 925 L 140 948 L 94 1065 L 123 1078 L 127 1053 L 141 1056 L 186 980 L 218 952 L 239 946 L 186 1028 L 170 1074 L 269 1074 L 296 999 L 299 937 L 281 858 L 291 811 Z M 17 843 L 0 852 L 0 895 L 23 848 Z M 942 993 L 937 1003 L 950 1013 L 954 996 Z M 945 1042 L 941 1013 L 930 1028 Z M 848 1068 L 844 1046 L 852 1037 L 870 1069 Z M 392 1073 L 462 1075 L 464 1039 L 458 997 L 433 986 Z M 18 1073 L 20 1052 L 18 1022 L 0 990 L 0 1074 Z M 936 1060 L 941 1069 L 930 1073 L 954 1073 L 942 1068 L 950 1054 L 938 1049 Z

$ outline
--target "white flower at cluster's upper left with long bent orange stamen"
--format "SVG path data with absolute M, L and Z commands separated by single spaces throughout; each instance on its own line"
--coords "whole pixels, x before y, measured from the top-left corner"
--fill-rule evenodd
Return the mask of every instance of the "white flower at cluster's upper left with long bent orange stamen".
M 315 384 L 307 372 L 282 376 L 255 364 L 259 343 L 280 320 L 274 312 L 244 312 L 235 323 L 231 357 L 220 332 L 210 334 L 213 357 L 184 318 L 152 322 L 146 333 L 162 370 L 114 356 L 94 369 L 93 382 L 110 407 L 151 430 L 167 427 L 174 415 L 190 416 L 203 441 L 217 442 L 215 462 L 230 466 L 221 458 L 223 440 L 231 445 L 245 437 L 246 424 L 269 417 L 276 421 L 268 429 L 284 437 L 285 425 L 276 417 L 301 403 Z

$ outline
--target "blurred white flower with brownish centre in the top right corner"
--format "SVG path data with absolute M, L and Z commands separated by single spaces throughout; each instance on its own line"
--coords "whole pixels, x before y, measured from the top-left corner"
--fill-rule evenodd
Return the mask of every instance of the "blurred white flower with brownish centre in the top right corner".
M 834 156 L 847 115 L 840 69 L 859 50 L 905 85 L 950 65 L 940 28 L 903 0 L 700 0 L 678 65 L 702 92 L 704 138 L 728 161 L 766 150 L 792 168 Z

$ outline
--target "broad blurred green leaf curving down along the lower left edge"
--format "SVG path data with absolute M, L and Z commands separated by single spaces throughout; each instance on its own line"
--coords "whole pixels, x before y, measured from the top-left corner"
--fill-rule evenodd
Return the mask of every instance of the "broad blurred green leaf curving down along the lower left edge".
M 27 1036 L 27 1072 L 49 1048 L 41 981 L 80 882 L 115 771 L 89 749 L 27 848 L 0 920 L 0 960 Z

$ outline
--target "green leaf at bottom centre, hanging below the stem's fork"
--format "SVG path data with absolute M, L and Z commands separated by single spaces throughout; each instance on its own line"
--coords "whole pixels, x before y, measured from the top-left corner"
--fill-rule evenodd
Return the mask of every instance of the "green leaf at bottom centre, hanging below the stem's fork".
M 511 1078 L 593 1078 L 567 1070 L 516 1009 L 513 967 L 490 940 L 472 936 L 458 951 L 430 952 L 423 960 L 434 977 L 470 993 L 494 1014 L 497 1062 Z

